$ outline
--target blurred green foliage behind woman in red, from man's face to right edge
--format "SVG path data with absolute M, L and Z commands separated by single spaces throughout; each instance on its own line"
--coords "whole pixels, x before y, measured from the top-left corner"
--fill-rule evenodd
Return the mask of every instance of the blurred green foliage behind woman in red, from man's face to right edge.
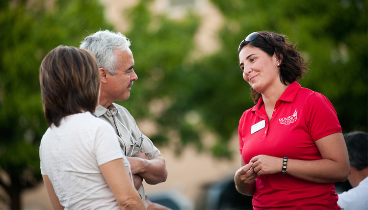
M 221 50 L 191 60 L 195 15 L 181 21 L 153 15 L 141 0 L 130 9 L 135 71 L 131 99 L 122 102 L 136 118 L 158 122 L 152 139 L 171 142 L 173 132 L 187 144 L 203 147 L 210 131 L 217 136 L 210 150 L 230 157 L 228 140 L 241 113 L 252 107 L 249 85 L 238 68 L 237 47 L 250 32 L 269 30 L 298 43 L 310 71 L 301 85 L 325 95 L 335 106 L 343 132 L 367 131 L 367 0 L 244 1 L 211 0 L 224 17 Z M 162 105 L 159 112 L 150 105 Z

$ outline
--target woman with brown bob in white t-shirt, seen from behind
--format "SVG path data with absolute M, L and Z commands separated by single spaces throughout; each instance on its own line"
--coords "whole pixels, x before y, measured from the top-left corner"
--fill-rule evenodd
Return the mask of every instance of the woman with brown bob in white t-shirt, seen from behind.
M 145 209 L 112 127 L 92 114 L 100 95 L 94 55 L 53 49 L 41 63 L 40 84 L 49 125 L 41 173 L 53 209 Z

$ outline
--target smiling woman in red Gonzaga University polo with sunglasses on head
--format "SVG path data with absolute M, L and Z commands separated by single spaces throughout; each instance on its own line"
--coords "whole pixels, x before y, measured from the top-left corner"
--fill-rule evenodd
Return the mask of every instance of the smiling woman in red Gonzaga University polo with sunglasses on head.
M 237 190 L 254 209 L 340 209 L 334 183 L 349 173 L 342 129 L 331 102 L 297 82 L 308 69 L 296 47 L 254 32 L 238 56 L 256 105 L 239 121 Z

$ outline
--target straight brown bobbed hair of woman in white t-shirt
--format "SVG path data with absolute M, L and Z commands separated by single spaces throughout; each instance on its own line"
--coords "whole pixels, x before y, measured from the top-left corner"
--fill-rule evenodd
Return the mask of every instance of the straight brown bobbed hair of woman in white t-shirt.
M 97 61 L 90 51 L 60 45 L 48 53 L 40 66 L 40 85 L 49 127 L 58 127 L 68 115 L 93 113 L 100 82 Z

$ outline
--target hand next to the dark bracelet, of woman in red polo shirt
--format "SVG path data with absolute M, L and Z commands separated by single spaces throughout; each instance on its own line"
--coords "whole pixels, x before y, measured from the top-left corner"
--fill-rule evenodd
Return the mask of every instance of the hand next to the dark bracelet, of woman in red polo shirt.
M 283 158 L 259 155 L 253 157 L 250 162 L 253 162 L 254 172 L 256 172 L 258 176 L 261 176 L 264 174 L 276 174 L 281 172 Z

